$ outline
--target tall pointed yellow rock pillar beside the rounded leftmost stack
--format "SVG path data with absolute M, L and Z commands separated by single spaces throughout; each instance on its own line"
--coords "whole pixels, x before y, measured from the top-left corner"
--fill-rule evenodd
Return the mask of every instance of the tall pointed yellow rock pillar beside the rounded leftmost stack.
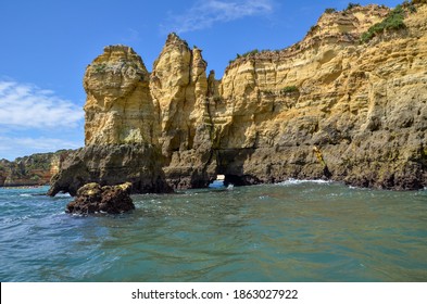
M 151 93 L 160 104 L 164 170 L 174 188 L 205 187 L 215 176 L 208 64 L 201 52 L 171 34 L 151 74 Z

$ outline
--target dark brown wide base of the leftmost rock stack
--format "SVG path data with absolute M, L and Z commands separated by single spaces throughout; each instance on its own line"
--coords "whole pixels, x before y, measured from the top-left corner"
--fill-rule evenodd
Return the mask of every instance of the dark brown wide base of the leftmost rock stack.
M 63 169 L 52 177 L 48 194 L 68 192 L 74 197 L 88 182 L 131 182 L 131 190 L 137 193 L 171 192 L 162 164 L 162 155 L 149 144 L 90 144 L 64 162 Z

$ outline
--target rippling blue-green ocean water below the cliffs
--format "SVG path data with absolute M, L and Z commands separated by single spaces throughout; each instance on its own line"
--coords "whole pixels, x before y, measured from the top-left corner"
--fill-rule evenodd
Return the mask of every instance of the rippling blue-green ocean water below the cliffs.
M 64 213 L 47 188 L 0 188 L 1 281 L 427 281 L 427 191 L 334 182 L 133 197 Z

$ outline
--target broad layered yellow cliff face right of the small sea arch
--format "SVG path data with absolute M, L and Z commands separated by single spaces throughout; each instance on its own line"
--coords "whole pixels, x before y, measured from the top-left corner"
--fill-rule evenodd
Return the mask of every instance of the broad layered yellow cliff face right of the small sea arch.
M 425 185 L 426 5 L 406 13 L 405 29 L 360 45 L 388 12 L 368 5 L 324 14 L 300 43 L 236 60 L 213 115 L 219 172 L 242 183 L 322 177 L 317 147 L 332 179 Z

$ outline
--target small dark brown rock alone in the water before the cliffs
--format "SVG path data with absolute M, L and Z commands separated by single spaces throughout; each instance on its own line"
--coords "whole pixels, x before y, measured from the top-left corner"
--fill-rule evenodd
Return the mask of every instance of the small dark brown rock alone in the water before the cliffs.
M 120 214 L 135 210 L 130 199 L 131 182 L 101 187 L 90 182 L 77 191 L 77 198 L 67 204 L 66 212 L 75 214 Z

